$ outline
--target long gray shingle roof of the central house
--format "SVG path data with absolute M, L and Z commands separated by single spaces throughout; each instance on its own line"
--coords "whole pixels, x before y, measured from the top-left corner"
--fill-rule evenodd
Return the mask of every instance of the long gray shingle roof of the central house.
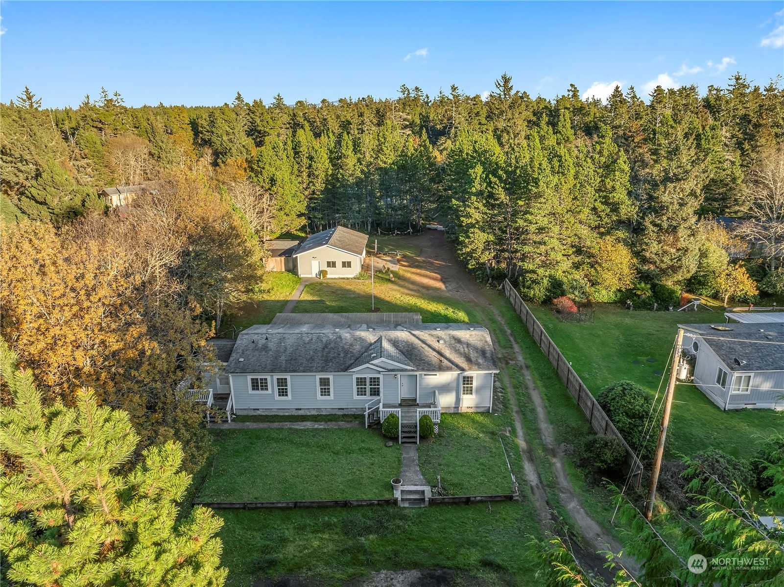
M 369 363 L 363 358 L 374 344 L 414 370 L 498 370 L 490 334 L 479 324 L 257 324 L 238 336 L 226 371 L 344 373 Z

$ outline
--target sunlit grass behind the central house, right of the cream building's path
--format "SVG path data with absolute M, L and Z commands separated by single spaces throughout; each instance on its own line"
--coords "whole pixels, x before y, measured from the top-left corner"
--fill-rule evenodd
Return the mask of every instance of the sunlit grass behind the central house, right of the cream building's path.
M 376 275 L 376 308 L 381 312 L 419 312 L 426 323 L 470 321 L 466 304 L 435 291 L 417 290 L 405 279 L 405 271 L 400 273 L 394 282 L 386 274 Z M 359 279 L 309 283 L 294 312 L 370 312 L 371 288 L 369 280 Z

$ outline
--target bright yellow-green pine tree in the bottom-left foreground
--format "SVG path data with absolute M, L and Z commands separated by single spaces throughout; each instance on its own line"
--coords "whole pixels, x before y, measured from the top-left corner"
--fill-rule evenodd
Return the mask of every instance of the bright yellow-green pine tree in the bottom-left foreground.
M 18 472 L 0 476 L 0 549 L 19 585 L 220 587 L 223 520 L 196 507 L 177 520 L 191 476 L 177 443 L 150 447 L 127 475 L 138 437 L 128 414 L 85 390 L 75 407 L 42 405 L 30 371 L 0 339 L 0 443 Z

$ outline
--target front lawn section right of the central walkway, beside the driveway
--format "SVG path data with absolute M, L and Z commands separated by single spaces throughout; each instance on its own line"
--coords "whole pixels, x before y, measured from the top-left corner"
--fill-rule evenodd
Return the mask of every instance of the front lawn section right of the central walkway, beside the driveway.
M 450 495 L 512 493 L 512 479 L 499 435 L 501 417 L 493 414 L 441 414 L 438 434 L 419 444 L 419 469 L 430 485 Z M 506 437 L 508 450 L 514 439 Z

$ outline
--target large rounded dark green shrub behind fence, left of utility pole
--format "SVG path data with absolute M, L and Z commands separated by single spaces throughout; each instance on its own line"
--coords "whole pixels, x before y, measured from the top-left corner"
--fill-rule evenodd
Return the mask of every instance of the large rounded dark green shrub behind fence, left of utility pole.
M 596 399 L 626 443 L 632 447 L 632 450 L 637 450 L 652 404 L 651 398 L 644 389 L 633 381 L 615 381 L 602 388 Z M 652 434 L 652 438 L 655 437 L 656 435 Z M 653 444 L 648 442 L 645 450 L 642 451 L 643 454 L 648 454 Z

